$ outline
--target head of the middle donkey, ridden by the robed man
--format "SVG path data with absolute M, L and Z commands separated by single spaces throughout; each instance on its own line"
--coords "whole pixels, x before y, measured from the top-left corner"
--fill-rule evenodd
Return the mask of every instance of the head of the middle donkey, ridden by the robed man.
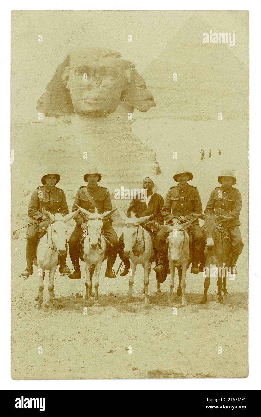
M 131 217 L 127 217 L 122 210 L 119 210 L 119 215 L 124 221 L 124 228 L 122 229 L 124 240 L 123 255 L 125 258 L 129 258 L 137 240 L 139 224 L 150 219 L 152 215 L 137 218 L 134 213 L 131 213 Z

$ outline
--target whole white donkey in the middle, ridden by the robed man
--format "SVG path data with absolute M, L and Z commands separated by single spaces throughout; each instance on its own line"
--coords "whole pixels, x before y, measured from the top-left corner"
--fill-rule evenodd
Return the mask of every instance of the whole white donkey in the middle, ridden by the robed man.
M 154 249 L 149 232 L 146 229 L 143 229 L 140 224 L 148 220 L 150 217 L 152 217 L 152 215 L 137 218 L 134 213 L 132 213 L 132 217 L 129 218 L 122 210 L 119 211 L 119 214 L 125 224 L 122 230 L 124 239 L 123 255 L 125 258 L 129 258 L 131 269 L 129 276 L 129 291 L 125 302 L 129 303 L 131 301 L 132 286 L 134 284 L 136 266 L 137 264 L 142 264 L 144 268 L 144 289 L 142 294 L 145 294 L 144 302 L 149 303 L 149 260 L 154 255 Z

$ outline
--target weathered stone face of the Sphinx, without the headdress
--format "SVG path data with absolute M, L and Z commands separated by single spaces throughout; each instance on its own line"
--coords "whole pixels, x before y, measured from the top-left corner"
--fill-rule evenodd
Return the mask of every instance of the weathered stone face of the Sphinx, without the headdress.
M 71 63 L 63 72 L 76 114 L 102 116 L 113 113 L 125 89 L 124 70 L 110 59 Z

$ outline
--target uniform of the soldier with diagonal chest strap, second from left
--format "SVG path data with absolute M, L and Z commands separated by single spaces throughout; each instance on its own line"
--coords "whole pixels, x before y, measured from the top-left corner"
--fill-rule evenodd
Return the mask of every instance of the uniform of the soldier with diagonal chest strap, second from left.
M 75 201 L 73 203 L 72 211 L 77 210 L 77 206 L 85 208 L 90 213 L 94 213 L 95 206 L 89 201 L 85 191 L 89 193 L 89 195 L 94 199 L 97 207 L 98 213 L 104 213 L 104 211 L 112 210 L 112 201 L 109 195 L 109 191 L 105 187 L 96 186 L 96 188 L 92 189 L 87 186 L 82 186 L 76 193 Z M 78 214 L 75 217 L 76 227 L 71 234 L 69 244 L 69 253 L 70 258 L 72 260 L 72 264 L 75 265 L 75 262 L 79 262 L 79 250 L 78 250 L 78 242 L 84 233 L 81 227 L 81 224 L 87 222 L 87 220 L 82 216 L 82 214 Z M 114 229 L 112 228 L 112 219 L 103 221 L 102 231 L 104 235 L 108 239 L 108 241 L 114 246 L 112 248 L 109 246 L 109 255 L 108 255 L 108 263 L 107 269 L 112 269 L 112 266 L 117 258 L 118 254 L 118 237 Z

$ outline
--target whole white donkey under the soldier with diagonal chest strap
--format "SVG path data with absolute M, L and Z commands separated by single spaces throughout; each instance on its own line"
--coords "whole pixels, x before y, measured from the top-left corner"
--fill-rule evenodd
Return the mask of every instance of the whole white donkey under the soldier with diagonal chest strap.
M 102 261 L 105 259 L 104 255 L 106 252 L 106 241 L 101 235 L 102 232 L 102 220 L 109 219 L 112 214 L 115 213 L 117 208 L 104 213 L 98 214 L 97 208 L 95 213 L 90 213 L 85 208 L 77 206 L 82 215 L 87 219 L 87 233 L 88 239 L 84 240 L 83 243 L 83 259 L 85 261 L 86 281 L 85 281 L 85 301 L 84 306 L 88 307 L 89 295 L 91 294 L 92 288 L 92 274 L 95 265 L 95 276 L 94 276 L 94 306 L 99 306 L 98 301 L 98 288 L 99 288 L 99 273 L 102 268 Z

